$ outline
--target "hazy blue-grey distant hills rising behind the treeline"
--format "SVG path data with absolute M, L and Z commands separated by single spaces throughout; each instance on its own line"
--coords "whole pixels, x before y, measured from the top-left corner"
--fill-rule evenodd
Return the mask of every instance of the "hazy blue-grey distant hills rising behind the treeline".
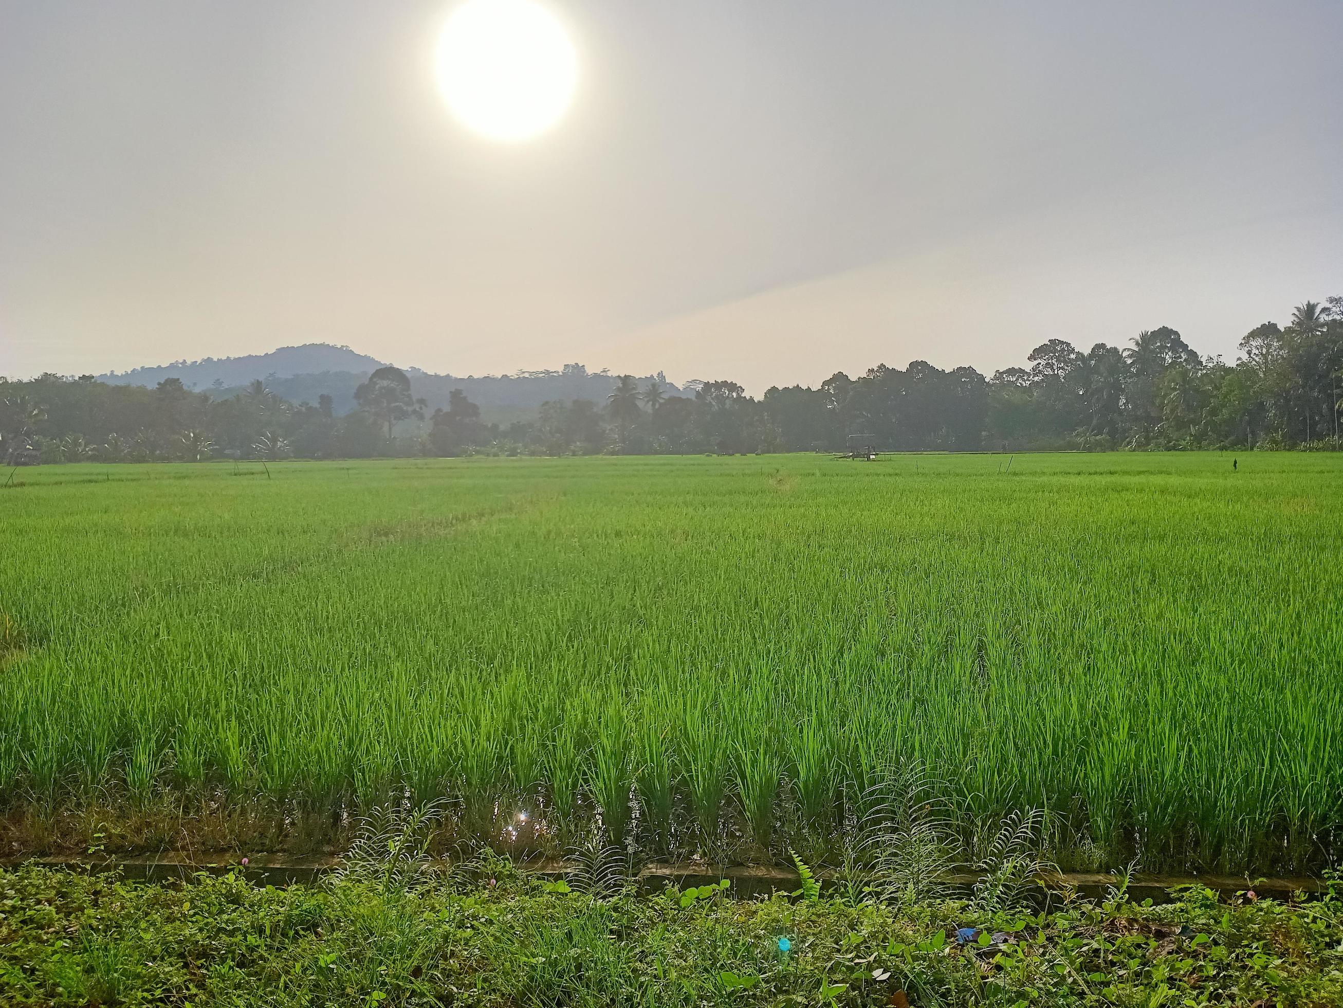
M 98 375 L 109 384 L 141 384 L 153 387 L 176 378 L 188 388 L 210 391 L 215 398 L 228 398 L 251 382 L 261 379 L 277 395 L 290 402 L 316 403 L 329 395 L 333 410 L 345 414 L 355 409 L 355 390 L 368 375 L 387 362 L 359 353 L 349 347 L 329 343 L 308 343 L 301 347 L 279 347 L 270 353 L 251 353 L 240 358 L 207 358 L 179 360 L 157 367 L 137 367 L 122 374 Z M 512 375 L 435 375 L 416 367 L 403 368 L 411 376 L 414 394 L 428 403 L 428 410 L 447 409 L 447 398 L 461 388 L 481 407 L 486 423 L 510 423 L 529 419 L 547 401 L 590 399 L 606 402 L 615 387 L 616 376 L 606 371 L 588 372 L 582 364 L 565 364 L 560 371 L 518 371 Z M 659 372 L 639 378 L 641 384 L 657 379 L 667 395 L 686 394 Z

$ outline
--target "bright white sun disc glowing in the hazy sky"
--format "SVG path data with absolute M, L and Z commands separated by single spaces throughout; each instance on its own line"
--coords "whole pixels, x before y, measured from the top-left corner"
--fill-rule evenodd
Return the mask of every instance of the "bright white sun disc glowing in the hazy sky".
M 490 140 L 544 133 L 577 83 L 573 43 L 536 0 L 466 0 L 443 26 L 434 66 L 447 108 Z

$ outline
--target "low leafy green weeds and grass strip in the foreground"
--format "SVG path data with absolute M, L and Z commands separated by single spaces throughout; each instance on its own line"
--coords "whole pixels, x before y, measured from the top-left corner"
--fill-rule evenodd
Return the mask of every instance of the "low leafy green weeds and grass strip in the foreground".
M 0 871 L 12 1008 L 248 1005 L 1327 1005 L 1343 903 L 1068 900 L 1052 913 L 842 896 L 639 896 L 528 880 L 257 888 Z

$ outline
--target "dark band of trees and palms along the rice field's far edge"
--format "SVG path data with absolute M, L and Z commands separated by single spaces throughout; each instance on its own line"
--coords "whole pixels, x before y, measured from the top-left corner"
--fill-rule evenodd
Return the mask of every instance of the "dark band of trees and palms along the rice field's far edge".
M 461 388 L 430 411 L 419 376 L 395 367 L 368 375 L 344 414 L 332 395 L 295 403 L 261 379 L 220 394 L 179 378 L 149 388 L 48 374 L 0 379 L 0 458 L 1339 446 L 1343 297 L 1307 301 L 1285 325 L 1252 329 L 1234 364 L 1199 356 L 1166 327 L 1128 347 L 1081 351 L 1050 339 L 1027 362 L 991 378 L 923 360 L 902 371 L 880 364 L 815 388 L 774 387 L 760 399 L 729 380 L 682 390 L 624 375 L 604 402 L 556 398 L 506 425 L 482 421 Z

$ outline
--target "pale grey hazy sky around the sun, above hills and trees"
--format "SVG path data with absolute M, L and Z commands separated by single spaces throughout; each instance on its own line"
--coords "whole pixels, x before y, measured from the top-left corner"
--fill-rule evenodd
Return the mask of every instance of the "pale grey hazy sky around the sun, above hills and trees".
M 548 133 L 455 4 L 0 0 L 0 374 L 348 344 L 752 392 L 1343 294 L 1343 3 L 545 0 Z

